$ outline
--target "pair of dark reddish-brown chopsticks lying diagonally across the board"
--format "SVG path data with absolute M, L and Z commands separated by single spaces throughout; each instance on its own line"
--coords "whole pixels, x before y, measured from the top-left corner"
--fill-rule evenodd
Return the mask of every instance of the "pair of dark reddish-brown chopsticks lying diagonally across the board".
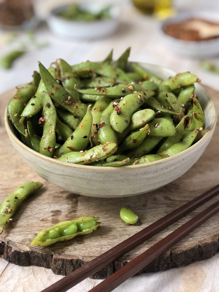
M 151 238 L 161 230 L 165 229 L 172 223 L 176 222 L 184 215 L 190 213 L 195 208 L 204 204 L 208 200 L 219 194 L 219 185 L 216 185 L 211 190 L 208 190 L 204 194 L 196 197 L 192 201 L 184 204 L 178 209 L 167 214 L 163 218 L 137 232 L 128 239 L 117 244 L 113 248 L 110 248 L 105 253 L 86 263 L 79 269 L 68 274 L 66 277 L 45 288 L 41 292 L 65 292 L 68 289 L 74 287 L 87 277 L 98 272 L 103 267 L 112 263 L 123 254 L 127 253 L 136 246 L 142 244 L 146 239 Z M 88 292 L 110 292 L 116 287 L 121 285 L 127 279 L 132 277 L 134 274 L 143 269 L 146 265 L 151 263 L 154 259 L 160 256 L 162 253 L 167 251 L 170 247 L 174 246 L 178 241 L 183 239 L 191 231 L 195 230 L 199 225 L 208 220 L 211 216 L 215 215 L 219 211 L 219 200 L 212 204 L 204 211 L 193 217 L 191 220 L 177 228 L 174 232 L 167 235 L 162 240 L 151 246 L 149 249 L 144 251 L 142 254 L 131 260 L 128 264 L 123 266 L 120 270 L 106 278 L 97 286 L 93 287 Z

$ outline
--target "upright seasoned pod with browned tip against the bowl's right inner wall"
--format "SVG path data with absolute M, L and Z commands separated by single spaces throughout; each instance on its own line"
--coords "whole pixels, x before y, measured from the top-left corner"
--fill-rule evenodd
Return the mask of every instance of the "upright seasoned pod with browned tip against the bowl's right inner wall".
M 185 138 L 191 131 L 194 131 L 197 128 L 204 127 L 204 113 L 202 111 L 202 107 L 199 104 L 199 101 L 196 98 L 196 95 L 191 95 L 191 98 L 193 100 L 193 106 L 192 106 L 192 120 L 188 123 L 188 125 L 185 128 L 183 138 Z

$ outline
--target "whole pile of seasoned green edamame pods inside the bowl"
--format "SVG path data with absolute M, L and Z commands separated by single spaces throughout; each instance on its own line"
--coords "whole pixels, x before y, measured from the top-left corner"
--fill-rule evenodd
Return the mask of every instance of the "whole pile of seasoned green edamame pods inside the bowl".
M 8 116 L 20 140 L 59 161 L 93 166 L 144 164 L 195 143 L 204 113 L 190 72 L 162 80 L 128 62 L 130 48 L 112 60 L 48 70 L 39 62 L 33 81 L 17 89 Z

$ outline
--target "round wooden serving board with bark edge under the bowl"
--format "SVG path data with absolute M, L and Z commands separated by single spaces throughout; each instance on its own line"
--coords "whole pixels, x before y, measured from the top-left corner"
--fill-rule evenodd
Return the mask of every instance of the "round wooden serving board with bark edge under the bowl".
M 219 93 L 210 88 L 206 89 L 219 112 Z M 43 266 L 51 268 L 55 274 L 66 275 L 219 183 L 217 124 L 209 146 L 197 163 L 183 176 L 158 190 L 134 197 L 114 199 L 84 197 L 62 190 L 36 175 L 24 164 L 11 145 L 3 117 L 7 102 L 13 94 L 14 90 L 0 97 L 0 201 L 24 181 L 40 181 L 44 186 L 19 207 L 13 221 L 6 225 L 0 236 L 0 253 L 12 263 Z M 219 196 L 100 270 L 93 277 L 109 276 L 217 199 Z M 119 211 L 124 206 L 132 208 L 139 216 L 137 226 L 128 226 L 121 221 Z M 76 237 L 47 248 L 30 247 L 30 242 L 41 229 L 82 215 L 99 216 L 103 226 L 93 234 Z M 219 250 L 218 236 L 219 214 L 154 260 L 140 273 L 167 270 L 210 258 Z

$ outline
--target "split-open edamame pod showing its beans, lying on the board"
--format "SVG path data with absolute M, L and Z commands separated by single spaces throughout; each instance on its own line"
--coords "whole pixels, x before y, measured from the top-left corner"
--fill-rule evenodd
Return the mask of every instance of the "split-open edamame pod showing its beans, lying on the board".
M 30 245 L 48 246 L 58 241 L 73 239 L 78 235 L 90 234 L 102 225 L 102 222 L 97 221 L 99 219 L 99 217 L 83 216 L 75 220 L 60 222 L 38 232 Z

